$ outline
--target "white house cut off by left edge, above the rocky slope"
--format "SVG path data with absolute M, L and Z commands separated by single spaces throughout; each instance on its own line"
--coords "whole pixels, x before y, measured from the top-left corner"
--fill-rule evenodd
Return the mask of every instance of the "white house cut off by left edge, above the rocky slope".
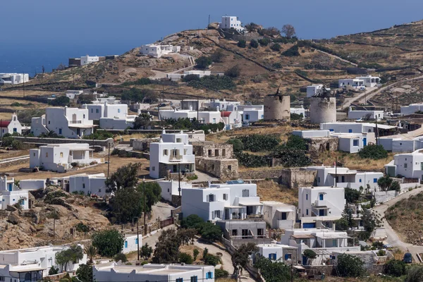
M 29 209 L 28 201 L 28 191 L 20 190 L 15 185 L 14 178 L 0 177 L 0 209 L 6 209 L 8 205 L 13 204 L 20 204 L 22 209 Z

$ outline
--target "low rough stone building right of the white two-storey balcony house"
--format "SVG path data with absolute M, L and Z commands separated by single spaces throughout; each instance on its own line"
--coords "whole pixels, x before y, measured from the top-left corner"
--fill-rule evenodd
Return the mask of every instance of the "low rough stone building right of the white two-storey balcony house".
M 238 178 L 238 159 L 195 157 L 195 169 L 212 174 L 221 180 Z

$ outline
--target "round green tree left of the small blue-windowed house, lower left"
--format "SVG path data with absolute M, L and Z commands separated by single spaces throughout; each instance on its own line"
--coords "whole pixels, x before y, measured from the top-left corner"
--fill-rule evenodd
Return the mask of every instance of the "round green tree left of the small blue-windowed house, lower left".
M 92 235 L 92 245 L 103 257 L 114 257 L 122 252 L 124 243 L 124 235 L 117 230 L 99 231 Z

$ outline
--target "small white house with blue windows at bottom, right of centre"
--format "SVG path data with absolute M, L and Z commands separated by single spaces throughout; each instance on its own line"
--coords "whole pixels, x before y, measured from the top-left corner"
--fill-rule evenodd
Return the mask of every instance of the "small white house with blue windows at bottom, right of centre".
M 266 257 L 272 262 L 284 262 L 288 265 L 298 264 L 298 248 L 282 244 L 258 244 L 258 252 L 253 254 L 253 262 L 257 259 L 256 255 Z

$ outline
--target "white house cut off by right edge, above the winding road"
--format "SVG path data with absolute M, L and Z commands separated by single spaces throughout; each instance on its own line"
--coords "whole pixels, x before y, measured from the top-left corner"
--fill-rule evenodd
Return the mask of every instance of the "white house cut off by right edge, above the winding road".
M 385 165 L 388 176 L 423 179 L 423 150 L 407 154 L 396 154 L 393 161 Z

